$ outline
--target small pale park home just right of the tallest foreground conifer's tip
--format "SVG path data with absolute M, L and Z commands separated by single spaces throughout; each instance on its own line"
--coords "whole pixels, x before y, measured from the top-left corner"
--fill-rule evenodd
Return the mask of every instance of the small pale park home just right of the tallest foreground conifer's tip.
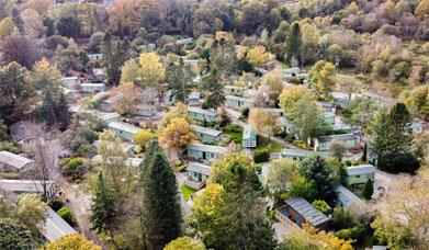
M 211 172 L 212 169 L 210 166 L 190 162 L 187 168 L 188 178 L 184 181 L 184 184 L 193 190 L 201 190 L 204 188 Z

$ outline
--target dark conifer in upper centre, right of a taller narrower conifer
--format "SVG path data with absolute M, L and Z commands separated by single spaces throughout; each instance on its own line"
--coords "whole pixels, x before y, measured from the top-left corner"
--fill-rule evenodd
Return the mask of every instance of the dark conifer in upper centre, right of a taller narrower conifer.
M 203 78 L 202 91 L 205 92 L 204 107 L 216 109 L 224 103 L 224 87 L 216 69 L 213 69 L 208 76 Z

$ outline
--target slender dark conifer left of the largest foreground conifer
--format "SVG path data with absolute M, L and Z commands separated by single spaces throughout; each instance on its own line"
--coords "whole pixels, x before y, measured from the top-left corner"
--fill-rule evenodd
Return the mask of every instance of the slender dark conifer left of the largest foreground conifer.
M 115 208 L 114 197 L 108 183 L 104 182 L 103 173 L 97 175 L 95 190 L 91 204 L 90 221 L 92 229 L 100 232 L 110 232 L 114 226 Z

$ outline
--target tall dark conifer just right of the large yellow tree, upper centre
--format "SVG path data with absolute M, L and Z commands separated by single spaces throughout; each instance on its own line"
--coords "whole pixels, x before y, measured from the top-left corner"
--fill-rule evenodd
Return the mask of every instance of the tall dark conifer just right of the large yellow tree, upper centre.
M 184 103 L 191 92 L 192 73 L 191 69 L 184 66 L 182 58 L 167 66 L 166 79 L 176 100 Z

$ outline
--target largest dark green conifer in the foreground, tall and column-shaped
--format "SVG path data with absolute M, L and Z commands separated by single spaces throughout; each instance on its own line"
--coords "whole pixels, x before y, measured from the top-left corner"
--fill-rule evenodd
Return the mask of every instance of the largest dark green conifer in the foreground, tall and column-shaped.
M 151 249 L 161 249 L 180 235 L 176 175 L 156 141 L 149 144 L 140 168 L 144 238 Z

